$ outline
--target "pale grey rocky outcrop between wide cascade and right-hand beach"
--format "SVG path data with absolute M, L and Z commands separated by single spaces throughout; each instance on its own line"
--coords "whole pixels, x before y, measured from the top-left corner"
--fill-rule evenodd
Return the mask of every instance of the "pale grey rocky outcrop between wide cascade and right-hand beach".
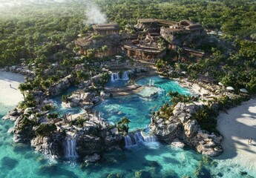
M 195 148 L 200 154 L 218 156 L 223 152 L 220 145 L 222 136 L 208 133 L 200 128 L 193 114 L 203 106 L 203 102 L 190 104 L 178 103 L 174 107 L 173 116 L 168 120 L 153 116 L 151 118 L 151 132 L 160 140 L 174 144 L 180 140 L 185 145 Z

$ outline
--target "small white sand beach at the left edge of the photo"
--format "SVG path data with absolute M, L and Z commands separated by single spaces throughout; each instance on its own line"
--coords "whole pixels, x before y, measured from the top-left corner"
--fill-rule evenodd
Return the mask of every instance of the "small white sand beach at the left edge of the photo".
M 6 106 L 13 106 L 22 101 L 22 93 L 18 90 L 21 82 L 24 82 L 23 75 L 0 71 L 0 103 L 4 103 Z M 10 85 L 12 86 L 11 88 Z

